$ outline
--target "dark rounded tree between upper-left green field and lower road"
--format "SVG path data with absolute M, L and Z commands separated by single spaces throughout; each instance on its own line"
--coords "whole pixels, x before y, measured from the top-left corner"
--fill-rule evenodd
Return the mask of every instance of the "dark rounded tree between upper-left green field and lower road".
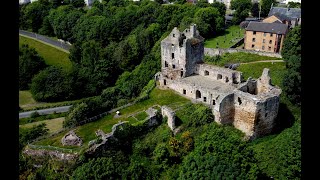
M 34 76 L 30 91 L 36 101 L 55 102 L 70 99 L 67 73 L 50 66 Z

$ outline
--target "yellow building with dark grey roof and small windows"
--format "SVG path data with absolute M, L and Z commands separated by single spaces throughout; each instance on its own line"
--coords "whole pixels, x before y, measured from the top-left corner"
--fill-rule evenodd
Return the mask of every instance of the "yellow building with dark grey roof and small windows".
M 280 53 L 283 40 L 288 32 L 288 25 L 280 22 L 249 22 L 244 49 Z

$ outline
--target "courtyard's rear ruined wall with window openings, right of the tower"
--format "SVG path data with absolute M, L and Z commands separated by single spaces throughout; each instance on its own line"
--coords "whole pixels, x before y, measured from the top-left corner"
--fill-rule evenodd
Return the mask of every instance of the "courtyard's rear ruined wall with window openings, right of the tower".
M 239 71 L 234 71 L 231 69 L 221 68 L 208 64 L 199 64 L 197 68 L 197 74 L 229 85 L 235 82 L 241 82 L 242 80 L 242 73 Z

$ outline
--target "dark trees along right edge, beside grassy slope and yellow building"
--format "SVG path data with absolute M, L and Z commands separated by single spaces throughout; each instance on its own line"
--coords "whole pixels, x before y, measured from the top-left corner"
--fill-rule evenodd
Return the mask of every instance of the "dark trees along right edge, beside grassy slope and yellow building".
M 286 61 L 282 86 L 287 98 L 294 104 L 301 103 L 301 26 L 296 26 L 288 34 L 281 52 Z

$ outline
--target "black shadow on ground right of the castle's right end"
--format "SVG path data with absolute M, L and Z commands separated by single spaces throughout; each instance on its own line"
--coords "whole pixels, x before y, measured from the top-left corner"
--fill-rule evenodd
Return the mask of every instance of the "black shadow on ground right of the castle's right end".
M 291 127 L 293 124 L 294 116 L 292 112 L 286 104 L 280 103 L 278 117 L 276 118 L 276 126 L 272 134 L 278 134 L 284 129 Z

